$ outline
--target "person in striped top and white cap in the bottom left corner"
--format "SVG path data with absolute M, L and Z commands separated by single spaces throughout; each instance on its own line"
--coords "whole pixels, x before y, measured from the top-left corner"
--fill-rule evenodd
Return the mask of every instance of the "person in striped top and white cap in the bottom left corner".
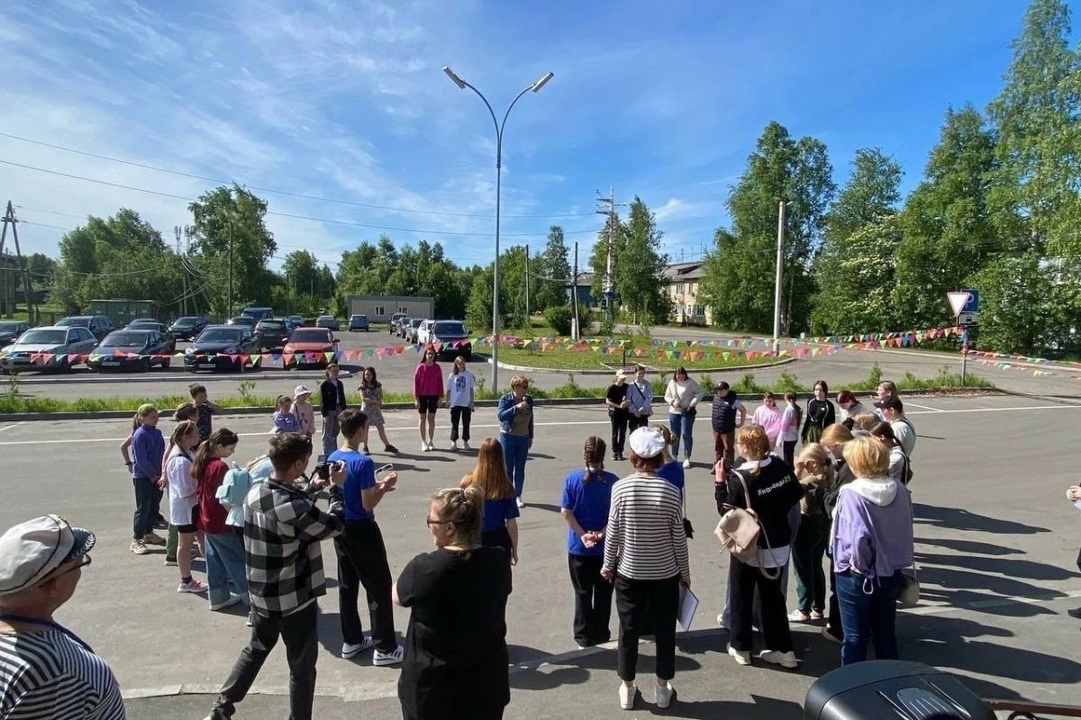
M 90 565 L 94 533 L 58 515 L 0 538 L 0 718 L 124 720 L 105 661 L 53 620 Z

